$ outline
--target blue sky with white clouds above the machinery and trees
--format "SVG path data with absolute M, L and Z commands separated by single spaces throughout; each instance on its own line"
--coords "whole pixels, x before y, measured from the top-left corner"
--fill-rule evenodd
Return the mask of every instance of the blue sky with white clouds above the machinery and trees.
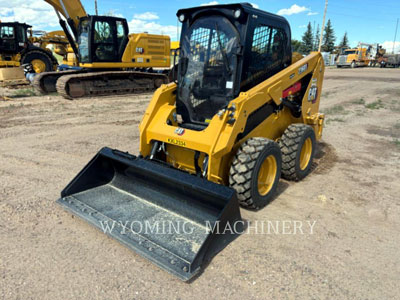
M 81 1 L 87 12 L 94 14 L 94 0 Z M 114 15 L 125 17 L 132 32 L 163 33 L 176 39 L 176 11 L 179 8 L 209 2 L 223 4 L 237 1 L 98 0 L 98 7 L 100 14 L 112 12 Z M 262 10 L 272 13 L 280 11 L 284 14 L 291 25 L 294 39 L 301 39 L 308 22 L 313 26 L 322 24 L 325 0 L 248 0 L 248 2 L 256 4 Z M 337 42 L 347 31 L 351 45 L 356 45 L 359 41 L 392 43 L 397 18 L 400 18 L 400 0 L 330 0 L 328 5 L 327 19 L 332 21 Z M 23 21 L 36 29 L 57 28 L 55 13 L 43 0 L 0 0 L 0 19 Z M 400 50 L 400 30 L 397 41 Z

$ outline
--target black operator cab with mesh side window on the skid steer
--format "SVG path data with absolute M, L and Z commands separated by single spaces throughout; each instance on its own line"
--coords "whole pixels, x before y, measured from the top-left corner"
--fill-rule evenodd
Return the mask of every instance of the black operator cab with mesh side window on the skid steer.
M 177 114 L 183 127 L 202 130 L 240 92 L 291 64 L 286 19 L 251 4 L 179 10 Z

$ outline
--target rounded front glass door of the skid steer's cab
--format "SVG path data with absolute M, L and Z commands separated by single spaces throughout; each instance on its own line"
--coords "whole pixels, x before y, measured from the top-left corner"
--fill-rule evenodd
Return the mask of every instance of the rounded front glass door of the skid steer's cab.
M 177 110 L 182 108 L 191 122 L 207 123 L 233 99 L 237 47 L 237 31 L 226 18 L 203 17 L 188 29 L 178 72 L 183 106 Z

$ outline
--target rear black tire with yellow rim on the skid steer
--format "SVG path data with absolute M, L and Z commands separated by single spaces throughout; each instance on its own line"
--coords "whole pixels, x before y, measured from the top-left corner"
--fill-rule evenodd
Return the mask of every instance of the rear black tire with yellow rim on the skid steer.
M 302 155 L 306 141 L 306 152 Z M 282 177 L 294 181 L 306 177 L 311 171 L 315 156 L 316 139 L 312 127 L 305 124 L 290 125 L 283 133 L 279 146 L 282 151 Z M 311 152 L 307 151 L 309 147 Z

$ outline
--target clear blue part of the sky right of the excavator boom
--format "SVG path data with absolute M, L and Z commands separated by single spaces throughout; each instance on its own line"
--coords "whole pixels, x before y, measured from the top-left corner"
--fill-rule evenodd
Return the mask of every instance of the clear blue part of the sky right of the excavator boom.
M 198 6 L 202 3 L 211 1 L 195 0 L 175 0 L 175 1 L 104 1 L 98 0 L 100 11 L 114 10 L 116 13 L 124 15 L 128 20 L 134 14 L 144 12 L 154 12 L 160 19 L 157 21 L 162 25 L 176 25 L 175 14 L 179 8 Z M 235 3 L 237 1 L 218 1 L 219 3 Z M 290 8 L 296 4 L 309 10 L 300 13 L 285 15 L 288 19 L 292 35 L 295 39 L 300 39 L 305 31 L 303 28 L 308 22 L 314 26 L 322 24 L 324 11 L 324 0 L 250 0 L 260 9 L 277 13 L 281 9 Z M 89 11 L 93 11 L 93 1 L 83 1 Z M 131 4 L 127 4 L 131 3 Z M 301 10 L 301 9 L 299 9 Z M 342 38 L 345 31 L 348 32 L 349 40 L 352 44 L 358 41 L 366 43 L 393 41 L 396 20 L 400 18 L 399 0 L 330 0 L 328 4 L 327 19 L 331 19 L 338 38 Z M 398 41 L 400 41 L 400 32 Z

